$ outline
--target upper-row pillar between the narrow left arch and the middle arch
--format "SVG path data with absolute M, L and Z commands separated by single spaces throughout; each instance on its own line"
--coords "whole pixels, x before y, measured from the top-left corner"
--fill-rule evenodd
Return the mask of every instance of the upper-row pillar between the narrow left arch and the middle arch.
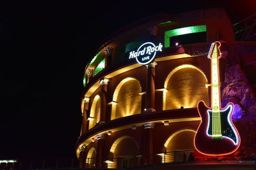
M 102 78 L 102 80 L 100 80 L 100 84 L 101 84 L 101 92 L 100 92 L 100 120 L 99 120 L 100 124 L 106 122 L 108 81 L 109 81 L 108 78 Z

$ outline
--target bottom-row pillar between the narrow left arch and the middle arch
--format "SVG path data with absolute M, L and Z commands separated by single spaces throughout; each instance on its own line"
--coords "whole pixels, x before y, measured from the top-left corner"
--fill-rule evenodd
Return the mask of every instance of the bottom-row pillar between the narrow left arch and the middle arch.
M 106 134 L 98 134 L 97 135 L 97 151 L 96 151 L 96 168 L 104 167 L 104 142 L 105 142 Z

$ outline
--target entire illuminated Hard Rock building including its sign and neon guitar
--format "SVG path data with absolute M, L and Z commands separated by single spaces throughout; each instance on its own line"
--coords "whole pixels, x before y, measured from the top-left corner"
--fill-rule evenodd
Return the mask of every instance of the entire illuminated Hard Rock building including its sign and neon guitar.
M 256 42 L 235 25 L 221 9 L 189 11 L 105 39 L 84 69 L 79 166 L 253 167 Z

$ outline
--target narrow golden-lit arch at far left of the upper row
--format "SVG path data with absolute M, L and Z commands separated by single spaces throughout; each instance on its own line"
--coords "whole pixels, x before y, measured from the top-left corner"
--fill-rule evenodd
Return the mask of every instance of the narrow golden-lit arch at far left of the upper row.
M 90 117 L 89 120 L 89 127 L 91 129 L 96 123 L 100 120 L 100 96 L 97 95 L 94 97 L 91 110 L 90 110 Z

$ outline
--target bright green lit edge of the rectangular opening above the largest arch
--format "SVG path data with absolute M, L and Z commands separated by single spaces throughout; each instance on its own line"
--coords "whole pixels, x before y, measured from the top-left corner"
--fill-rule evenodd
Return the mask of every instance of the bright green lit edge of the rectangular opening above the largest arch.
M 164 32 L 164 47 L 170 47 L 170 37 L 180 36 L 184 34 L 192 34 L 197 32 L 206 32 L 206 25 L 198 25 L 191 27 L 183 27 L 179 29 L 172 29 Z

